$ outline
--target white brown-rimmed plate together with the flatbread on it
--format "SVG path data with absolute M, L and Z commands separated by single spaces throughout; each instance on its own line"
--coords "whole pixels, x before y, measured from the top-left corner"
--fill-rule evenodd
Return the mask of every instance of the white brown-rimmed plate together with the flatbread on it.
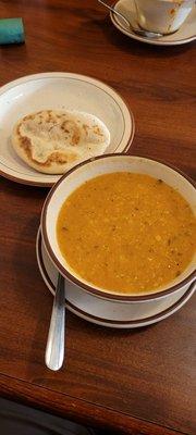
M 52 186 L 78 162 L 126 152 L 133 114 L 111 87 L 72 73 L 28 75 L 0 88 L 0 174 Z

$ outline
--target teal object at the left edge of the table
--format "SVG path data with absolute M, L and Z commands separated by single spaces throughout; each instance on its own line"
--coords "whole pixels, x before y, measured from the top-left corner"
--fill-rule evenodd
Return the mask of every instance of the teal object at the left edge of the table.
M 24 42 L 24 26 L 22 18 L 0 20 L 0 45 Z

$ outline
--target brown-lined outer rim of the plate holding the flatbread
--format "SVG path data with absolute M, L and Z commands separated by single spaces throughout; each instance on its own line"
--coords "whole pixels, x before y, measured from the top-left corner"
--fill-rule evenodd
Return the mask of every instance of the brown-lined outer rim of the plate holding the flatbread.
M 16 86 L 20 86 L 22 84 L 35 80 L 35 79 L 47 79 L 47 78 L 73 78 L 73 79 L 82 79 L 86 83 L 91 83 L 93 85 L 99 85 L 99 87 L 103 90 L 110 90 L 110 92 L 108 92 L 110 95 L 110 97 L 112 97 L 115 102 L 118 103 L 118 100 L 121 101 L 121 110 L 122 113 L 124 115 L 124 121 L 127 121 L 126 117 L 128 116 L 128 130 L 130 130 L 130 137 L 126 141 L 126 145 L 124 146 L 124 148 L 121 151 L 118 151 L 118 149 L 121 146 L 121 142 L 119 144 L 118 148 L 114 150 L 114 152 L 121 152 L 121 153 L 126 153 L 133 142 L 134 136 L 135 136 L 135 119 L 132 112 L 132 109 L 128 104 L 128 102 L 126 102 L 126 100 L 119 94 L 118 90 L 115 90 L 114 88 L 112 88 L 110 85 L 108 85 L 107 83 L 89 76 L 89 75 L 84 75 L 84 74 L 78 74 L 78 73 L 72 73 L 72 72 L 46 72 L 46 73 L 37 73 L 37 74 L 29 74 L 29 75 L 25 75 L 22 76 L 20 78 L 16 78 L 14 80 L 11 80 L 9 83 L 7 83 L 5 85 L 0 87 L 0 97 L 3 94 L 7 94 L 9 90 L 11 90 L 12 88 L 15 88 Z M 118 98 L 117 98 L 118 97 Z M 119 104 L 119 103 L 118 103 Z M 126 129 L 126 125 L 127 122 L 125 123 L 125 129 Z M 125 130 L 124 130 L 125 132 Z M 113 152 L 113 151 L 112 151 Z M 12 174 L 12 169 L 10 171 L 3 170 L 2 169 L 3 163 L 0 160 L 0 175 L 3 176 L 4 178 L 8 178 L 12 182 L 19 183 L 19 184 L 23 184 L 23 185 L 27 185 L 27 186 L 36 186 L 36 187 L 51 187 L 53 186 L 63 175 L 57 175 L 57 179 L 56 181 L 48 181 L 48 182 L 41 182 L 41 181 L 34 181 L 34 179 L 28 179 L 28 177 L 26 178 L 25 175 L 22 176 L 16 176 L 15 174 Z M 13 170 L 14 172 L 14 170 Z M 41 173 L 39 173 L 40 177 L 41 177 Z M 47 176 L 47 174 L 42 174 L 42 176 Z M 56 176 L 56 175 L 51 175 L 51 176 Z M 34 177 L 34 175 L 29 174 L 29 178 Z

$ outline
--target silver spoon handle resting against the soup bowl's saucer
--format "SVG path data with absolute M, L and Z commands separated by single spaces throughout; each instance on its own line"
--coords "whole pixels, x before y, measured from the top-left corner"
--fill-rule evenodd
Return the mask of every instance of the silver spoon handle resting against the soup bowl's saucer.
M 46 365 L 54 371 L 62 366 L 64 359 L 64 277 L 59 273 L 45 355 Z

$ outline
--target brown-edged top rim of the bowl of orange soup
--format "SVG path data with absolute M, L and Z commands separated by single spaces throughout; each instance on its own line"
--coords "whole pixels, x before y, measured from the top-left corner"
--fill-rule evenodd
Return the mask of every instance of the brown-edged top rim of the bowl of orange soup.
M 74 171 L 77 171 L 78 167 L 87 165 L 88 163 L 95 161 L 95 160 L 103 160 L 103 159 L 108 159 L 108 158 L 143 158 L 146 160 L 151 160 L 154 162 L 160 163 L 164 166 L 168 166 L 170 169 L 172 169 L 174 172 L 177 172 L 180 175 L 182 175 L 185 179 L 188 181 L 189 184 L 192 184 L 192 186 L 195 187 L 195 183 L 192 181 L 192 178 L 189 178 L 186 174 L 184 174 L 182 171 L 180 171 L 179 169 L 176 169 L 175 166 L 172 166 L 171 164 L 164 163 L 161 160 L 156 160 L 156 159 L 149 159 L 146 158 L 145 156 L 127 156 L 127 154 L 121 154 L 121 153 L 111 153 L 111 154 L 105 154 L 105 156 L 98 156 L 95 158 L 90 158 L 88 160 L 86 160 L 85 162 L 81 162 L 78 163 L 76 166 L 74 166 L 73 169 L 71 169 L 70 171 L 68 171 L 60 179 L 59 182 L 56 183 L 56 185 L 51 188 L 51 190 L 49 191 L 45 202 L 44 202 L 44 207 L 42 207 L 42 211 L 41 211 L 41 217 L 40 217 L 40 227 L 41 227 L 41 234 L 42 234 L 42 241 L 45 245 L 45 248 L 51 259 L 51 261 L 53 262 L 53 264 L 57 266 L 57 269 L 59 270 L 59 272 L 66 277 L 69 281 L 71 281 L 73 284 L 76 284 L 78 287 L 83 288 L 85 291 L 88 291 L 90 294 L 94 294 L 102 299 L 112 299 L 113 301 L 143 301 L 143 300 L 150 300 L 150 299 L 158 299 L 161 298 L 166 295 L 170 295 L 173 291 L 179 290 L 182 285 L 188 284 L 191 279 L 194 279 L 194 277 L 196 278 L 196 270 L 194 270 L 187 277 L 185 277 L 183 281 L 181 281 L 179 284 L 173 285 L 172 287 L 167 288 L 166 290 L 162 291 L 158 291 L 158 293 L 152 293 L 150 295 L 140 295 L 140 296 L 125 296 L 125 295 L 119 295 L 119 294 L 111 294 L 108 293 L 107 290 L 99 290 L 90 285 L 87 285 L 86 283 L 83 283 L 81 279 L 76 278 L 71 272 L 69 272 L 66 270 L 65 266 L 63 266 L 59 260 L 57 259 L 56 254 L 53 253 L 51 247 L 50 247 L 50 243 L 47 236 L 47 229 L 46 229 L 46 215 L 47 215 L 47 208 L 48 204 L 52 198 L 53 192 L 57 190 L 58 186 L 62 183 L 62 181 L 64 181 L 70 174 L 72 174 Z M 192 283 L 189 283 L 192 284 Z

